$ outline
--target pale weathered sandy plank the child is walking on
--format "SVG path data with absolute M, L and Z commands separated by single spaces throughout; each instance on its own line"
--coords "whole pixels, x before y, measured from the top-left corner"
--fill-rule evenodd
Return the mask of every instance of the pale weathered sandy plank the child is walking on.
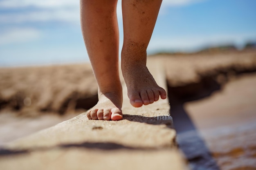
M 167 89 L 162 64 L 150 60 L 148 68 L 157 84 Z M 123 120 L 88 120 L 82 113 L 5 145 L 0 169 L 186 170 L 175 143 L 168 99 L 133 108 L 123 89 Z

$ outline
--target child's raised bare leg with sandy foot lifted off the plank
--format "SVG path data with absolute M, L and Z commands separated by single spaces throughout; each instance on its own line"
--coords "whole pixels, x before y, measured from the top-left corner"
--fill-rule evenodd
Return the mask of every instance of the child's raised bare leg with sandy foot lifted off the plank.
M 166 98 L 146 67 L 146 49 L 162 0 L 123 0 L 124 45 L 121 66 L 132 106 Z

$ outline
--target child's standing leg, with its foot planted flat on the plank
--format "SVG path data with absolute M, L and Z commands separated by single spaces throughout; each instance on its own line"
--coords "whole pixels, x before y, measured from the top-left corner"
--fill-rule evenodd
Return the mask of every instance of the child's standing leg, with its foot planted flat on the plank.
M 81 27 L 99 86 L 99 102 L 89 119 L 122 119 L 122 86 L 118 70 L 117 0 L 81 0 Z

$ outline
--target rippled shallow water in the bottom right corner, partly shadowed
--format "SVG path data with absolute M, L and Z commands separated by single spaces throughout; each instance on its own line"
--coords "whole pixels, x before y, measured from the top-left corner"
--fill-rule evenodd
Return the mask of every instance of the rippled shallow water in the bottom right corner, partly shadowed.
M 256 123 L 177 135 L 191 170 L 256 170 Z

